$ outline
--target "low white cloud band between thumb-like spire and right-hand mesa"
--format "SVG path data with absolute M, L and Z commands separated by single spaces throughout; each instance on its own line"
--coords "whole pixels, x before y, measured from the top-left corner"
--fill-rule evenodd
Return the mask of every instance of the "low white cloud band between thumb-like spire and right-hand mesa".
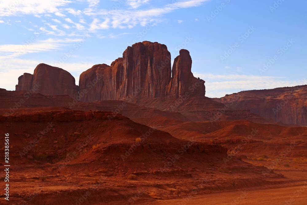
M 254 76 L 254 75 L 214 75 L 211 73 L 195 73 L 206 81 L 207 97 L 223 97 L 226 94 L 237 93 L 243 90 L 274 89 L 278 87 L 292 87 L 303 85 L 305 81 L 290 81 L 286 77 Z

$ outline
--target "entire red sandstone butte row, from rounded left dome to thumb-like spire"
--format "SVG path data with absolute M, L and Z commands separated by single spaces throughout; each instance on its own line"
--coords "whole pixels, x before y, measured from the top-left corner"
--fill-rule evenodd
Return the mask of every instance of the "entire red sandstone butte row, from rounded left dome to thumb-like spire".
M 84 102 L 128 98 L 180 98 L 189 92 L 205 95 L 203 80 L 191 72 L 192 58 L 182 49 L 171 68 L 166 45 L 143 41 L 128 46 L 122 58 L 94 65 L 80 75 L 79 87 L 67 71 L 46 64 L 37 65 L 34 74 L 18 78 L 16 90 L 31 90 L 44 95 L 69 95 Z M 192 90 L 192 92 L 191 92 Z

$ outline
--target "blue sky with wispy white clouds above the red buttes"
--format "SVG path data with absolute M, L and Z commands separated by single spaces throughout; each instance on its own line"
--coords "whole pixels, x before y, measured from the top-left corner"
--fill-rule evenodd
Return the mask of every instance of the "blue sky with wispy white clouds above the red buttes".
M 79 81 L 140 41 L 192 56 L 206 96 L 307 84 L 303 0 L 0 0 L 0 88 L 39 63 Z

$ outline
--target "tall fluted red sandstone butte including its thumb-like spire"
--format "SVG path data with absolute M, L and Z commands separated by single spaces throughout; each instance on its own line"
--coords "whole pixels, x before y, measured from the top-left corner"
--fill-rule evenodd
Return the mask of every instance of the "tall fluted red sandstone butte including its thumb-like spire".
M 189 93 L 204 96 L 204 81 L 193 77 L 192 59 L 181 50 L 173 65 L 166 45 L 139 42 L 129 46 L 123 57 L 111 66 L 94 65 L 81 73 L 79 80 L 81 101 L 124 100 L 128 98 L 179 98 Z M 89 83 L 96 82 L 91 86 Z M 84 96 L 84 97 L 83 97 Z

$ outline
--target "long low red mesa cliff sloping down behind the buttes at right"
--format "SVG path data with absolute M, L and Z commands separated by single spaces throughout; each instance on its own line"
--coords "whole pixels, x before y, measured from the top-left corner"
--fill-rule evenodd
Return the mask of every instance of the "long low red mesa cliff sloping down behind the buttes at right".
M 215 100 L 231 109 L 249 109 L 276 122 L 307 125 L 307 85 L 242 91 Z

